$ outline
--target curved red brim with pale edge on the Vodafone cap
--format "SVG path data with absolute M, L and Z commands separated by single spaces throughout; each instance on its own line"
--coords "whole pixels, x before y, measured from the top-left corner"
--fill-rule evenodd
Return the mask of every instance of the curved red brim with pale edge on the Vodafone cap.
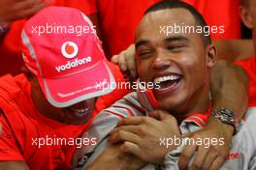
M 55 107 L 68 107 L 85 99 L 92 99 L 112 92 L 115 80 L 106 61 L 98 62 L 85 71 L 63 78 L 38 77 L 48 102 Z

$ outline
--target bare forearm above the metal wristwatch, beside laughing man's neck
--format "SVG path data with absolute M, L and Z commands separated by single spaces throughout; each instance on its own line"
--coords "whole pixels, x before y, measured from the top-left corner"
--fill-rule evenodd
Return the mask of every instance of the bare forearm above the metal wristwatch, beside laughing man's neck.
M 212 109 L 232 108 L 240 120 L 248 103 L 248 77 L 245 71 L 233 63 L 220 60 L 212 71 L 210 85 Z

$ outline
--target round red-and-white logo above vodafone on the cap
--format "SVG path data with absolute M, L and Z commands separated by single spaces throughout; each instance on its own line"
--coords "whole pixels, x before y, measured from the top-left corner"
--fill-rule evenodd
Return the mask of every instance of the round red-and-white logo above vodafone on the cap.
M 61 46 L 61 53 L 67 59 L 73 59 L 79 53 L 79 46 L 75 42 L 65 42 Z

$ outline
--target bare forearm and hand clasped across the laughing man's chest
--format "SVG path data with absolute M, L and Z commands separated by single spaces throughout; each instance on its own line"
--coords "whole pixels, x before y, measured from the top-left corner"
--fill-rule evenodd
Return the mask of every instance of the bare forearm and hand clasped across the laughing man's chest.
M 176 146 L 167 146 L 167 141 L 160 144 L 160 139 L 181 137 L 181 134 L 176 119 L 168 112 L 158 110 L 150 114 L 154 118 L 128 117 L 118 122 L 117 128 L 111 133 L 111 146 L 90 164 L 89 170 L 110 167 L 141 169 L 145 162 L 162 164 L 164 156 Z

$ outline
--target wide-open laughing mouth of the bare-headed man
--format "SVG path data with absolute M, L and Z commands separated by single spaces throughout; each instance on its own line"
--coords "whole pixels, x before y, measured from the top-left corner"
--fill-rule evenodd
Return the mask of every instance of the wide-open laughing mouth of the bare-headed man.
M 159 85 L 159 89 L 157 90 L 166 89 L 166 88 L 176 86 L 176 84 L 179 83 L 181 78 L 182 76 L 178 74 L 160 76 L 160 77 L 154 78 L 154 84 Z

